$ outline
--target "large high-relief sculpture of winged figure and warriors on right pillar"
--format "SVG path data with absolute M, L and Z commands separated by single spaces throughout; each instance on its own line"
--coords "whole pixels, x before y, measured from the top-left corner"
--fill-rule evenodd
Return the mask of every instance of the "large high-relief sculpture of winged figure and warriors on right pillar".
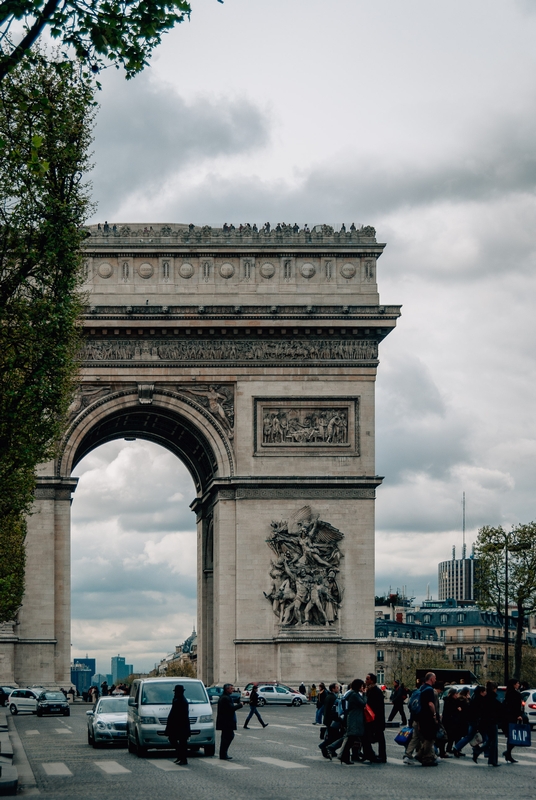
M 310 506 L 300 508 L 288 522 L 272 522 L 266 539 L 274 553 L 271 588 L 263 594 L 282 628 L 329 629 L 336 623 L 342 603 L 342 539 L 344 534 Z

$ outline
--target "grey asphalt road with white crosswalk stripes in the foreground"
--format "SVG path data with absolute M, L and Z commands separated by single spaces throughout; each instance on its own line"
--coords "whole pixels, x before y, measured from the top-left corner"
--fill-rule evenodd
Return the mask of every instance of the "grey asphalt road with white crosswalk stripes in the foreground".
M 388 763 L 347 767 L 323 759 L 314 709 L 265 707 L 262 729 L 255 718 L 242 728 L 247 709 L 238 712 L 239 729 L 230 762 L 189 757 L 188 767 L 173 764 L 169 751 L 149 751 L 147 758 L 126 747 L 94 750 L 87 744 L 86 710 L 76 704 L 70 717 L 19 714 L 11 725 L 20 737 L 21 796 L 41 794 L 58 800 L 478 800 L 536 796 L 536 749 L 514 750 L 519 764 L 500 769 L 478 765 L 468 756 L 424 769 L 402 764 L 403 748 L 386 731 Z M 8 715 L 9 716 L 9 715 Z M 218 734 L 219 742 L 219 734 Z M 499 753 L 504 739 L 499 739 Z M 27 761 L 24 757 L 27 758 Z

